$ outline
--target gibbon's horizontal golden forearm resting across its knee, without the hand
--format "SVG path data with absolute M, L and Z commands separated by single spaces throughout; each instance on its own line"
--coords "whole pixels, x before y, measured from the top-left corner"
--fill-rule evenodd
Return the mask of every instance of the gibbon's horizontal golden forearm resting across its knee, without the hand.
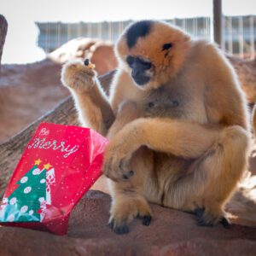
M 197 158 L 216 140 L 218 131 L 185 120 L 137 119 L 113 138 L 125 154 L 141 146 L 184 158 Z M 122 141 L 122 142 L 121 142 Z M 116 148 L 118 151 L 120 148 Z M 132 152 L 128 152 L 131 151 Z

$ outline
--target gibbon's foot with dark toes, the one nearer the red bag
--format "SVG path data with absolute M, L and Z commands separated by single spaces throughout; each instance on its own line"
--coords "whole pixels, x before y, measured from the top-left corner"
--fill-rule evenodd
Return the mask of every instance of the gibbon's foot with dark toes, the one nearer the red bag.
M 129 232 L 128 224 L 133 218 L 142 218 L 143 225 L 148 226 L 152 215 L 147 201 L 137 199 L 127 199 L 115 203 L 111 208 L 109 227 L 119 235 Z

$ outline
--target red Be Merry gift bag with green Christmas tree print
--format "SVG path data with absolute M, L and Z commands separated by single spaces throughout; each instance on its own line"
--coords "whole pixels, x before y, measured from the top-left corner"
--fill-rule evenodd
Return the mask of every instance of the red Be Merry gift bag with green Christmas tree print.
M 89 128 L 41 123 L 3 195 L 0 223 L 65 235 L 71 210 L 102 174 L 107 143 Z

